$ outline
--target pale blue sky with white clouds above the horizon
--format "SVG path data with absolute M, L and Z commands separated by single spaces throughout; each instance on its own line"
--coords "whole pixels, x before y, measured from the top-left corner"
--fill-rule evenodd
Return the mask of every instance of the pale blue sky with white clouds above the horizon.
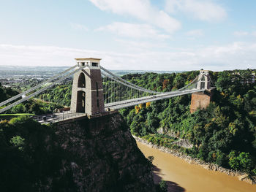
M 0 65 L 256 69 L 255 0 L 0 0 Z

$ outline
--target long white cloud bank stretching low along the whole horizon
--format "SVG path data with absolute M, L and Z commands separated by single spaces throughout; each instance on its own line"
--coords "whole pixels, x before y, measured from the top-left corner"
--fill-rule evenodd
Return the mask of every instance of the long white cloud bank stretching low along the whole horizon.
M 129 53 L 66 47 L 0 45 L 0 65 L 72 66 L 75 64 L 74 58 L 84 57 L 102 58 L 102 66 L 107 69 L 256 69 L 256 43 L 234 42 L 230 45 L 191 50 L 134 50 Z

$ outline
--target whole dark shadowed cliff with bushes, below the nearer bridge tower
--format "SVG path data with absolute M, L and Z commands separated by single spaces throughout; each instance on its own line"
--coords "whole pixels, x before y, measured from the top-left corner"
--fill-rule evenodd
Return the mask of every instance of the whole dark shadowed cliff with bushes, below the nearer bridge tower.
M 0 191 L 155 191 L 150 165 L 118 113 L 41 125 L 0 121 Z

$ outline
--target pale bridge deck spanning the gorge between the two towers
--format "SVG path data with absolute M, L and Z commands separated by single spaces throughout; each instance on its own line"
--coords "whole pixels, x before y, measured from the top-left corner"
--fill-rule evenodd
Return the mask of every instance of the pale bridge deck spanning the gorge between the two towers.
M 128 99 L 125 101 L 117 101 L 109 104 L 105 104 L 105 110 L 120 110 L 124 107 L 132 107 L 137 104 L 143 104 L 147 102 L 157 101 L 161 99 L 168 99 L 173 96 L 182 96 L 190 93 L 197 93 L 197 92 L 203 92 L 205 89 L 190 89 L 190 90 L 184 90 L 184 91 L 172 91 L 168 93 L 161 93 L 154 96 L 144 96 L 136 99 Z

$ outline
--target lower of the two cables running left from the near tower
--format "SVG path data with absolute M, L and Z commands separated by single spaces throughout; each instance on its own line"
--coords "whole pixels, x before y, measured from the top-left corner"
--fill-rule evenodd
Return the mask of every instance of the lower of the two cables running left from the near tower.
M 86 65 L 86 66 L 88 66 L 88 65 Z M 23 101 L 26 101 L 26 100 L 30 99 L 31 97 L 36 96 L 36 95 L 38 95 L 39 93 L 42 93 L 43 91 L 47 90 L 48 88 L 52 87 L 53 85 L 56 85 L 57 83 L 61 82 L 62 80 L 65 80 L 67 77 L 69 77 L 69 76 L 72 75 L 72 74 L 75 74 L 76 72 L 80 71 L 81 69 L 83 69 L 83 68 L 86 67 L 86 66 L 79 66 L 79 69 L 76 69 L 75 71 L 70 72 L 69 74 L 65 75 L 64 77 L 61 77 L 59 80 L 56 80 L 56 81 L 52 82 L 50 85 L 47 85 L 47 86 L 45 86 L 44 88 L 41 88 L 41 89 L 39 89 L 38 91 L 36 91 L 36 92 L 34 92 L 34 93 L 31 93 L 29 96 L 26 96 L 26 97 L 24 97 L 23 99 L 20 99 L 20 100 L 18 100 L 18 101 L 15 101 L 14 103 L 8 105 L 7 107 L 4 107 L 3 109 L 0 110 L 0 113 L 1 113 L 1 112 L 5 112 L 5 111 L 7 111 L 7 110 L 10 110 L 10 108 L 12 108 L 12 107 L 14 107 L 14 106 L 16 106 L 16 105 L 22 103 Z M 74 67 L 74 68 L 75 68 L 75 67 Z

